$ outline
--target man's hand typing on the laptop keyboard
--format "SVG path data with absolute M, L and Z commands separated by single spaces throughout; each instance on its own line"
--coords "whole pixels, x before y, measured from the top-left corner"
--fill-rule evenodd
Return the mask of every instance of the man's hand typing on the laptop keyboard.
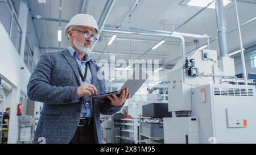
M 89 95 L 90 97 L 92 95 L 96 95 L 97 93 L 98 91 L 94 85 L 85 83 L 77 88 L 76 95 L 78 98 L 81 98 L 84 95 Z

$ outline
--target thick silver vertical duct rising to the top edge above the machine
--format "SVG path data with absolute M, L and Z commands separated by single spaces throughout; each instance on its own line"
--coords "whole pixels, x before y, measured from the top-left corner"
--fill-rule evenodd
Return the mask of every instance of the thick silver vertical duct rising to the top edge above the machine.
M 226 39 L 226 20 L 224 16 L 224 5 L 222 0 L 216 0 L 216 19 L 218 28 L 218 44 L 220 46 L 220 56 L 229 56 L 228 43 Z

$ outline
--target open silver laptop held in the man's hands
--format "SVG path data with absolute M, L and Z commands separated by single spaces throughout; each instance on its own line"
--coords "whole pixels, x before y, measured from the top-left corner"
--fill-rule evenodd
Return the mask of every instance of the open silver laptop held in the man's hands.
M 126 88 L 128 88 L 128 91 L 130 93 L 130 98 L 131 98 L 138 91 L 139 87 L 142 86 L 142 84 L 146 81 L 147 78 L 148 78 L 147 73 L 143 72 L 141 68 L 137 68 L 133 72 L 133 74 L 130 76 L 130 78 L 125 82 L 125 84 L 121 87 L 121 89 L 119 89 L 119 91 L 113 91 L 110 93 L 94 95 L 88 98 L 106 100 L 108 99 L 107 96 L 109 95 L 116 94 L 117 96 L 119 96 L 122 93 L 122 90 Z

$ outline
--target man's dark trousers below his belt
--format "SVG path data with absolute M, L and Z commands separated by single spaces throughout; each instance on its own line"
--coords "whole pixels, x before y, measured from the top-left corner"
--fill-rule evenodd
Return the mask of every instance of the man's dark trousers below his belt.
M 69 144 L 95 144 L 93 123 L 77 127 L 76 133 Z

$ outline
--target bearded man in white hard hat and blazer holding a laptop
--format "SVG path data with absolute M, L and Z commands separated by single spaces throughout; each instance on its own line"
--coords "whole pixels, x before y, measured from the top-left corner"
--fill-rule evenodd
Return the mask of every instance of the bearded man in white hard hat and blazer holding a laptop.
M 115 114 L 130 97 L 124 89 L 119 97 L 88 99 L 107 93 L 101 69 L 90 58 L 97 33 L 92 15 L 77 14 L 65 28 L 69 46 L 40 56 L 27 85 L 28 98 L 44 103 L 34 143 L 101 143 L 100 114 Z

